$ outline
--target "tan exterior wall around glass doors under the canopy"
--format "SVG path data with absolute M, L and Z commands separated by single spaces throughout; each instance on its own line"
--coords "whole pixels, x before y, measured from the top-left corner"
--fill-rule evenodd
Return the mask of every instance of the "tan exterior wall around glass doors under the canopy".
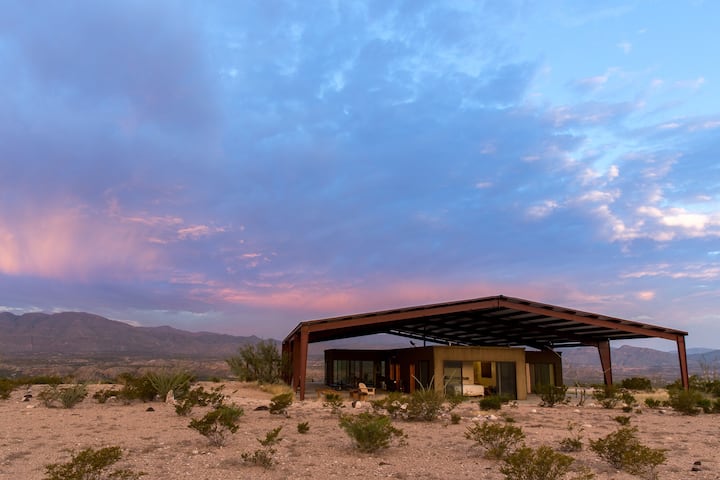
M 463 383 L 474 383 L 474 362 L 514 362 L 515 363 L 515 385 L 518 400 L 527 398 L 525 349 L 505 347 L 433 347 L 435 353 L 434 368 L 435 378 L 443 378 L 443 362 L 461 361 Z M 492 379 L 483 379 L 483 385 L 497 385 L 497 373 L 493 364 Z M 467 380 L 466 380 L 467 378 Z M 487 382 L 486 382 L 487 381 Z M 435 382 L 435 389 L 442 390 L 441 382 Z

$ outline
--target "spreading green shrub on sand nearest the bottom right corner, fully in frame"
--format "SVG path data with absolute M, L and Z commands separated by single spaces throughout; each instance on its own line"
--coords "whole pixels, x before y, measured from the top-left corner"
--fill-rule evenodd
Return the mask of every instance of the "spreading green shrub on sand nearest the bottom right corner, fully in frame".
M 665 463 L 665 452 L 642 445 L 636 433 L 636 427 L 621 427 L 605 437 L 591 440 L 590 449 L 617 469 L 654 477 L 657 466 Z

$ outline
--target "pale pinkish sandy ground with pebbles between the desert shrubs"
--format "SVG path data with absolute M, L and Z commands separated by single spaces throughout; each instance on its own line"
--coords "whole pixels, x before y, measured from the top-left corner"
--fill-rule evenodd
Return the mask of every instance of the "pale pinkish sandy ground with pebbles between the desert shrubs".
M 583 443 L 587 446 L 588 439 L 614 431 L 618 424 L 613 417 L 622 415 L 619 409 L 588 404 L 542 408 L 537 399 L 517 407 L 506 406 L 499 413 L 481 412 L 476 401 L 468 401 L 455 410 L 462 416 L 457 425 L 447 418 L 431 423 L 397 421 L 395 425 L 407 434 L 406 444 L 368 455 L 352 448 L 349 437 L 338 426 L 337 416 L 324 408 L 312 392 L 305 401 L 295 402 L 286 418 L 255 410 L 268 405 L 272 394 L 241 383 L 226 383 L 224 391 L 229 400 L 241 406 L 245 415 L 240 430 L 226 446 L 212 447 L 188 428 L 189 419 L 178 416 L 171 405 L 98 404 L 87 398 L 73 409 L 51 409 L 37 401 L 41 389 L 33 387 L 35 398 L 30 402 L 22 401 L 24 390 L 0 401 L 1 480 L 42 479 L 48 463 L 66 462 L 71 452 L 86 447 L 111 445 L 124 450 L 118 466 L 145 472 L 143 478 L 501 479 L 500 463 L 484 459 L 482 449 L 465 438 L 472 422 L 489 415 L 510 415 L 525 432 L 526 443 L 533 447 L 557 447 L 561 439 L 569 436 L 568 422 L 574 422 L 583 427 Z M 147 411 L 148 407 L 154 411 Z M 343 410 L 356 413 L 363 409 L 352 408 L 348 399 Z M 198 410 L 193 416 L 201 413 Z M 720 478 L 720 415 L 688 417 L 643 408 L 641 414 L 631 416 L 631 424 L 639 428 L 644 444 L 668 450 L 668 461 L 659 468 L 660 479 Z M 309 423 L 308 433 L 298 433 L 300 422 Z M 264 438 L 277 426 L 283 427 L 277 464 L 270 470 L 246 466 L 241 454 L 258 449 L 256 439 Z M 576 459 L 574 465 L 589 467 L 598 479 L 635 478 L 614 470 L 587 448 L 570 455 Z M 699 471 L 691 471 L 698 461 Z

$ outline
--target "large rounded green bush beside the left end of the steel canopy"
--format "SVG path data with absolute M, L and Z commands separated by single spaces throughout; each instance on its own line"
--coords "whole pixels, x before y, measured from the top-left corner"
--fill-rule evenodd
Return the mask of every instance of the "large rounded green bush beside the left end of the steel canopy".
M 282 375 L 282 356 L 272 340 L 244 345 L 238 355 L 225 361 L 230 371 L 245 382 L 277 383 Z

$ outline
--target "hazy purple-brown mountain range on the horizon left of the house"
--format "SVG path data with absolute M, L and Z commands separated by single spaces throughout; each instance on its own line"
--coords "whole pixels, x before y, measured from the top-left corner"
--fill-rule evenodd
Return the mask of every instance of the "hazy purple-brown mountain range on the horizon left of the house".
M 226 358 L 259 338 L 134 327 L 83 312 L 0 313 L 0 354 Z

